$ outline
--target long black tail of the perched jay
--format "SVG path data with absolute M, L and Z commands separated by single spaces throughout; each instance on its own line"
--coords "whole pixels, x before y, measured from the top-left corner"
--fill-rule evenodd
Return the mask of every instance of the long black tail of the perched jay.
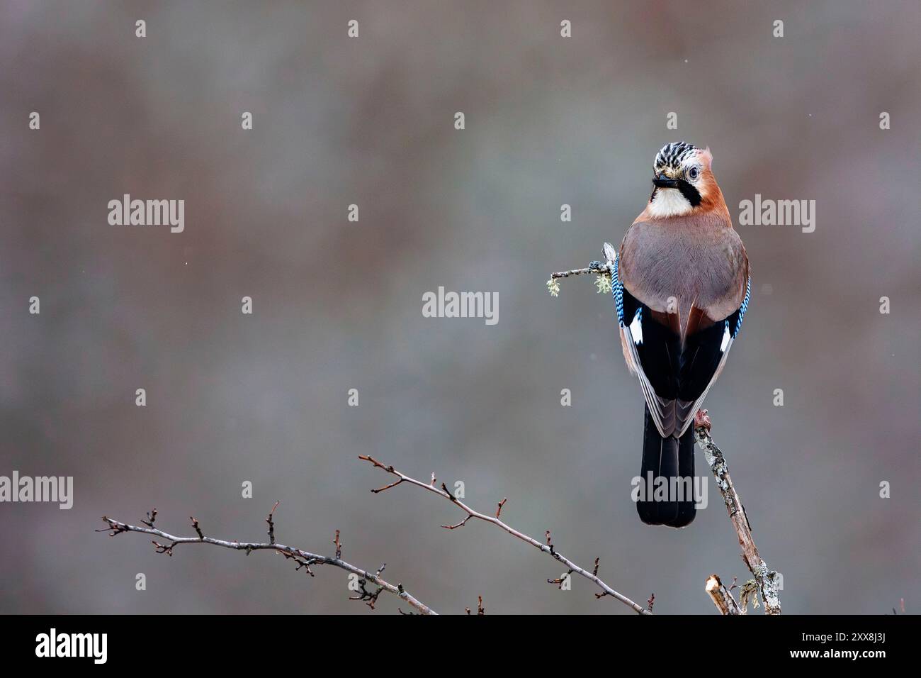
M 653 481 L 661 476 L 668 482 L 664 499 L 660 497 L 656 501 L 652 494 L 653 488 L 647 484 L 650 472 Z M 636 511 L 643 522 L 672 528 L 691 524 L 697 510 L 694 506 L 694 427 L 688 428 L 680 439 L 674 436 L 663 438 L 648 406 L 643 431 L 642 482 L 646 485 L 647 494 L 645 501 L 636 502 Z M 675 489 L 679 494 L 675 494 Z

